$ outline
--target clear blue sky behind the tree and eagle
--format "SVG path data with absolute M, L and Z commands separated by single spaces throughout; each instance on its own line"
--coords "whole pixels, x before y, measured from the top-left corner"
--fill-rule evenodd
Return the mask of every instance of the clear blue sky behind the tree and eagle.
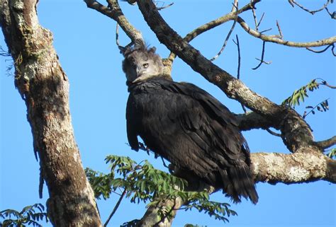
M 240 1 L 240 6 L 248 1 Z M 103 1 L 102 1 L 103 3 Z M 169 4 L 170 1 L 167 1 Z M 160 45 L 155 35 L 147 27 L 137 6 L 120 3 L 125 15 L 136 28 L 142 31 L 148 44 L 157 47 L 162 57 L 169 51 Z M 301 1 L 310 8 L 320 8 L 324 1 Z M 335 5 L 335 4 L 334 4 Z M 330 11 L 335 6 L 330 6 Z M 174 6 L 162 11 L 162 16 L 177 30 L 186 35 L 194 28 L 207 23 L 230 11 L 231 1 L 174 1 Z M 276 20 L 281 25 L 284 38 L 292 41 L 313 41 L 335 35 L 335 21 L 325 13 L 311 16 L 292 8 L 287 1 L 262 1 L 257 4 L 257 16 L 265 17 L 261 30 L 273 28 L 267 34 L 277 34 Z M 70 107 L 75 138 L 81 151 L 84 167 L 102 172 L 108 171 L 103 159 L 108 154 L 130 156 L 135 161 L 148 159 L 155 167 L 164 169 L 161 161 L 145 152 L 131 151 L 125 132 L 125 104 L 128 98 L 125 76 L 121 70 L 122 56 L 115 45 L 116 23 L 97 13 L 82 1 L 40 1 L 38 5 L 40 23 L 54 34 L 54 46 L 60 62 L 70 82 Z M 242 18 L 254 28 L 252 13 L 242 14 Z M 213 57 L 223 45 L 232 22 L 209 31 L 191 42 L 208 58 Z M 260 95 L 274 103 L 281 103 L 293 91 L 307 84 L 313 78 L 324 78 L 336 85 L 335 57 L 329 51 L 314 54 L 304 49 L 266 44 L 265 61 L 257 71 L 262 41 L 247 35 L 239 25 L 233 32 L 228 46 L 215 64 L 230 74 L 236 75 L 237 47 L 232 42 L 239 35 L 242 54 L 242 81 Z M 120 35 L 122 45 L 129 40 Z M 0 45 L 6 49 L 2 33 Z M 8 58 L 7 58 L 8 59 Z M 0 58 L 0 210 L 11 208 L 20 210 L 23 206 L 37 202 L 39 165 L 33 155 L 33 142 L 30 126 L 26 120 L 26 105 L 13 85 L 13 76 L 6 75 L 6 58 Z M 240 104 L 228 99 L 218 88 L 196 74 L 180 59 L 176 59 L 172 76 L 175 81 L 188 81 L 205 89 L 224 103 L 233 112 L 242 112 Z M 306 105 L 316 105 L 330 98 L 330 110 L 309 115 L 306 120 L 314 130 L 315 140 L 330 138 L 336 134 L 335 91 L 321 87 L 308 93 L 306 103 L 296 108 L 303 113 Z M 252 152 L 289 153 L 281 139 L 262 130 L 244 132 Z M 313 182 L 297 185 L 257 184 L 259 202 L 253 205 L 243 201 L 233 204 L 238 216 L 230 217 L 227 226 L 336 226 L 336 187 L 329 182 Z M 211 196 L 218 202 L 228 202 L 221 193 Z M 99 201 L 103 221 L 112 211 L 118 197 L 112 194 L 108 201 Z M 111 226 L 119 226 L 125 221 L 140 219 L 145 212 L 145 204 L 121 203 L 111 219 Z M 193 223 L 201 226 L 223 226 L 220 221 L 209 218 L 197 211 L 179 211 L 173 226 Z

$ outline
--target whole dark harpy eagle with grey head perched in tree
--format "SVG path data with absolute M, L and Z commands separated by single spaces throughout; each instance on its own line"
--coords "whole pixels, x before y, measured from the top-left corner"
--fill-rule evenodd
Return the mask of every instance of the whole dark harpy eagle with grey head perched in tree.
M 194 84 L 164 76 L 155 47 L 122 52 L 130 93 L 126 120 L 131 148 L 139 150 L 140 136 L 154 153 L 222 189 L 233 202 L 245 197 L 256 204 L 250 150 L 235 115 Z

